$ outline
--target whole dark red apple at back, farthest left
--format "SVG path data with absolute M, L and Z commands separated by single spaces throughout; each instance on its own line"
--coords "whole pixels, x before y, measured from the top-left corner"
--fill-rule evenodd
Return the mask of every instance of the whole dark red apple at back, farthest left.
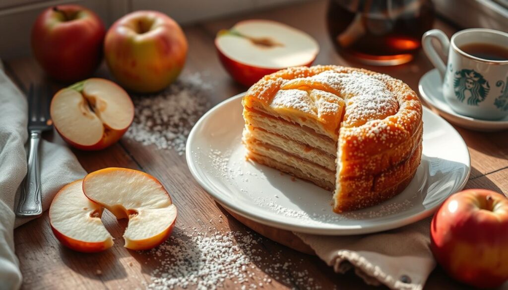
M 105 34 L 97 14 L 78 5 L 58 5 L 44 10 L 35 21 L 31 47 L 50 77 L 78 81 L 99 66 Z

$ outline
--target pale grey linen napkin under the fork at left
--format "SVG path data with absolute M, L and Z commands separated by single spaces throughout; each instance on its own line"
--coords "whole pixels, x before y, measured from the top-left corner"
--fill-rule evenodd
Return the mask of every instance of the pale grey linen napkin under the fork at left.
M 0 61 L 1 63 L 1 61 Z M 26 175 L 27 104 L 23 94 L 0 68 L 0 289 L 21 285 L 14 253 L 14 228 L 31 218 L 16 218 L 14 206 Z M 42 141 L 41 189 L 43 210 L 65 184 L 86 174 L 69 148 Z

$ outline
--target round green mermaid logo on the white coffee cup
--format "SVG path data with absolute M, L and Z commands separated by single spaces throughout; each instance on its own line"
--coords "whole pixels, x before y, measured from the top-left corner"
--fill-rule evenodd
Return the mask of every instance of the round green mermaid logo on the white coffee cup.
M 455 72 L 453 87 L 457 99 L 460 102 L 467 100 L 471 106 L 483 102 L 490 90 L 489 82 L 481 74 L 466 69 Z

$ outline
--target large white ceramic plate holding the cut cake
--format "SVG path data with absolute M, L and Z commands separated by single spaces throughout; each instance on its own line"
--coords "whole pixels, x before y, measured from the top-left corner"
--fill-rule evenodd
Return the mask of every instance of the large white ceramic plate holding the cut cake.
M 207 112 L 190 132 L 187 165 L 220 204 L 271 227 L 309 234 L 353 235 L 402 227 L 431 215 L 465 185 L 469 152 L 455 129 L 424 109 L 422 163 L 398 196 L 377 206 L 336 214 L 332 193 L 245 160 L 241 97 Z

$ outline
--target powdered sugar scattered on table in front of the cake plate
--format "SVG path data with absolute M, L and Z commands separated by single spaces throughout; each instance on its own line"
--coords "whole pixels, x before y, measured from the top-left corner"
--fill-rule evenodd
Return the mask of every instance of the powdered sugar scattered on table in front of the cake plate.
M 146 286 L 157 290 L 216 289 L 232 280 L 239 289 L 271 288 L 276 281 L 292 288 L 322 288 L 308 277 L 303 260 L 291 261 L 278 251 L 262 254 L 267 250 L 262 246 L 265 240 L 250 232 L 223 234 L 204 225 L 190 233 L 174 233 L 166 243 L 146 253 L 159 262 Z

